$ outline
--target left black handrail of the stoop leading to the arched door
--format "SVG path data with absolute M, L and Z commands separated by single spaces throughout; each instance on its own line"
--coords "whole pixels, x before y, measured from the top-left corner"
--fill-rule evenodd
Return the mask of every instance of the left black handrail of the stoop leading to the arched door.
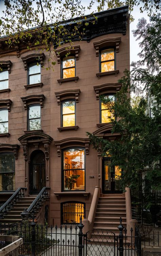
M 11 211 L 14 203 L 19 200 L 19 198 L 24 197 L 24 190 L 27 188 L 18 188 L 13 195 L 0 207 L 0 219 L 4 219 L 3 215 L 7 215 L 8 211 Z M 22 190 L 22 192 L 21 192 Z

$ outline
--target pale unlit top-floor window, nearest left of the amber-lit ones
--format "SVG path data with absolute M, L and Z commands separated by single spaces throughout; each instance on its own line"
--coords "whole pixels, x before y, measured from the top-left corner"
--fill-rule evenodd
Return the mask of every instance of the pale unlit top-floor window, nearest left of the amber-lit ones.
M 41 82 L 41 65 L 37 63 L 28 67 L 28 84 L 37 84 Z

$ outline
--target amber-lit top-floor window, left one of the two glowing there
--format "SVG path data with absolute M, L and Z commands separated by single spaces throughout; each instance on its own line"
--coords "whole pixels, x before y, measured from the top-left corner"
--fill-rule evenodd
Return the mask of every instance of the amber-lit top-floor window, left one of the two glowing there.
M 75 57 L 67 57 L 62 59 L 62 78 L 70 78 L 75 76 Z

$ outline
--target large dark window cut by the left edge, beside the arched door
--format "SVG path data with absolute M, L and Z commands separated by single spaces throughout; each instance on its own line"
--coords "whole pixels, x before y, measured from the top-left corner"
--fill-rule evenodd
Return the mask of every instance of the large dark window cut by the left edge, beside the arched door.
M 15 190 L 15 157 L 12 153 L 0 154 L 0 191 Z

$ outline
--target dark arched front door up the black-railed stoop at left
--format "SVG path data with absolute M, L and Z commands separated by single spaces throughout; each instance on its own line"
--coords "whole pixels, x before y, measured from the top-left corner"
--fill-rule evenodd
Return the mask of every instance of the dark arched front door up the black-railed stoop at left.
M 38 194 L 46 186 L 45 155 L 41 150 L 35 150 L 30 160 L 30 194 Z

